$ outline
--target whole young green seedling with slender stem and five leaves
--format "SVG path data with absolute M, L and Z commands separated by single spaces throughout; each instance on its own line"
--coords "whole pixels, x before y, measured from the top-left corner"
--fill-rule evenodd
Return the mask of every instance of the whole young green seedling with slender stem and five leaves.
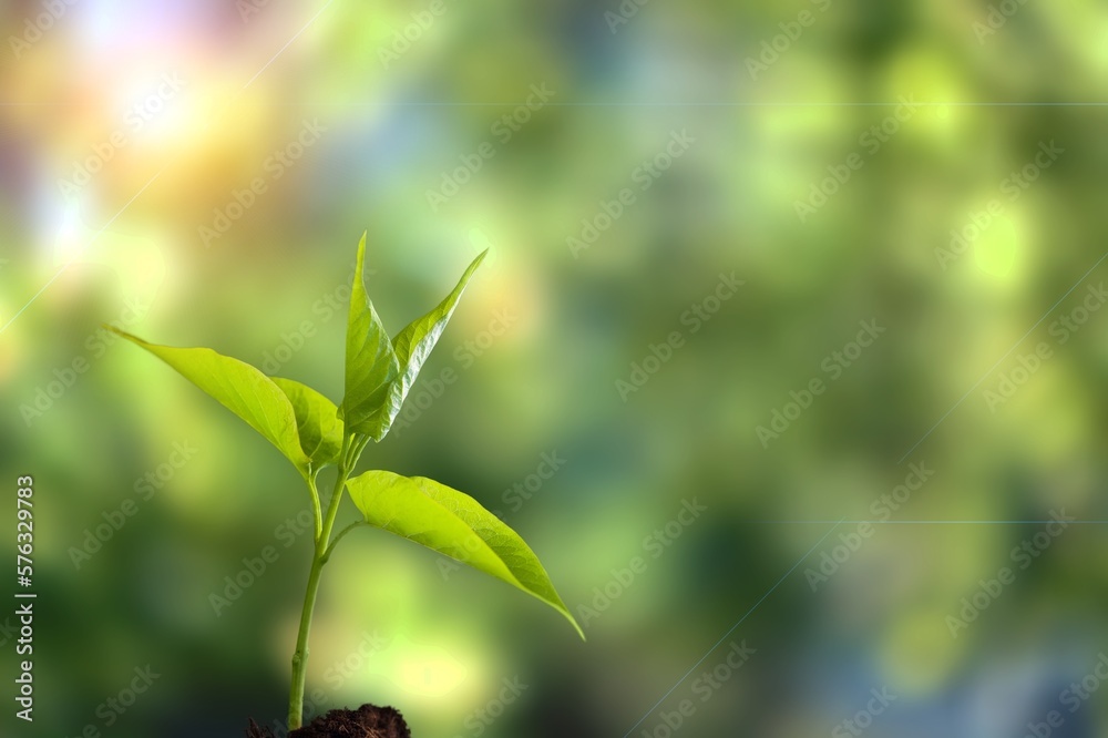
M 255 367 L 212 349 L 155 346 L 104 326 L 165 361 L 245 420 L 293 462 L 307 484 L 315 514 L 315 547 L 293 655 L 290 730 L 300 727 L 302 720 L 308 632 L 320 574 L 339 541 L 361 525 L 396 533 L 519 587 L 562 613 L 584 638 L 538 557 L 515 531 L 476 500 L 424 476 L 401 476 L 389 471 L 353 475 L 366 445 L 380 442 L 389 432 L 484 256 L 481 254 L 470 264 L 438 307 L 390 339 L 366 294 L 362 235 L 347 325 L 346 394 L 338 407 L 310 387 L 291 379 L 270 379 Z M 320 470 L 330 465 L 337 468 L 337 474 L 325 512 L 317 480 Z M 332 535 L 346 490 L 361 519 Z

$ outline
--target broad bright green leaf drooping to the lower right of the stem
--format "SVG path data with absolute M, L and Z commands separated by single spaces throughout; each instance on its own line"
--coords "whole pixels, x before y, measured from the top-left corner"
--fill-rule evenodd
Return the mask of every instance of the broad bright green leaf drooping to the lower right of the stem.
M 519 534 L 458 490 L 425 476 L 368 471 L 347 481 L 366 522 L 469 564 L 562 613 L 585 634 Z

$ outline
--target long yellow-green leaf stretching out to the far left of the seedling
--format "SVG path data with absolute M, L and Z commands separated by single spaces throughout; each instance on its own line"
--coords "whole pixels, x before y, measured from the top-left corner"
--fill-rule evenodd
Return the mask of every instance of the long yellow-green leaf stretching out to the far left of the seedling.
M 301 473 L 307 469 L 293 403 L 260 370 L 212 349 L 156 346 L 113 326 L 104 328 L 165 361 L 266 437 Z

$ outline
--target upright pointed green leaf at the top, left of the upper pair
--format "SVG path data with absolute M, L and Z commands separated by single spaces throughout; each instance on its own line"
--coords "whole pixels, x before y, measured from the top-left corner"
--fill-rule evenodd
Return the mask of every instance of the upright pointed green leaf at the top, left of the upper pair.
M 350 290 L 350 317 L 347 322 L 346 396 L 341 417 L 347 430 L 365 433 L 380 441 L 400 412 L 392 407 L 392 382 L 400 373 L 389 334 L 366 294 L 362 270 L 366 262 L 366 236 L 358 244 Z

